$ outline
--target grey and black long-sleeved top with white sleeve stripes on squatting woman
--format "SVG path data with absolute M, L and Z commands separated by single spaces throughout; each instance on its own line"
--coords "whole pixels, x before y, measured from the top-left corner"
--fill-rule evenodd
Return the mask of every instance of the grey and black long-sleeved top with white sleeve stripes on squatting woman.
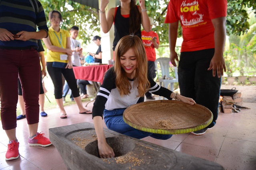
M 170 98 L 170 95 L 172 93 L 170 90 L 159 86 L 149 76 L 148 80 L 150 82 L 150 93 L 164 96 L 169 100 L 172 99 Z M 113 110 L 127 108 L 133 104 L 136 104 L 139 100 L 139 97 L 137 97 L 138 89 L 136 88 L 136 80 L 129 80 L 129 82 L 132 86 L 130 94 L 120 96 L 120 91 L 116 88 L 116 73 L 114 72 L 114 67 L 108 69 L 92 108 L 92 118 L 94 116 L 102 117 L 104 109 Z

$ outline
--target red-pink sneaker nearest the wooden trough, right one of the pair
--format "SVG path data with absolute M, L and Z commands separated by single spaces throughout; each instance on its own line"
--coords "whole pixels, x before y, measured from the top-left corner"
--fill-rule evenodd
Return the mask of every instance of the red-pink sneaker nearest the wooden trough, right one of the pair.
M 52 145 L 50 142 L 50 139 L 44 137 L 44 133 L 36 133 L 36 136 L 33 137 L 33 139 L 28 138 L 28 146 L 34 147 L 34 146 L 41 146 L 41 147 L 48 147 L 49 145 Z

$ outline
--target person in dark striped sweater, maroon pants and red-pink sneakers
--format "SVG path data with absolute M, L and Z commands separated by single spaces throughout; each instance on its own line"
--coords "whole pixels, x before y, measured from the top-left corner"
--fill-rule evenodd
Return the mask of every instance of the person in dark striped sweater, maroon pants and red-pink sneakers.
M 37 7 L 37 8 L 35 8 Z M 2 15 L 1 15 L 2 14 Z M 38 28 L 39 31 L 36 31 Z M 19 157 L 16 138 L 18 77 L 26 104 L 29 146 L 47 147 L 52 143 L 38 133 L 40 59 L 37 40 L 48 37 L 42 4 L 38 0 L 0 2 L 0 99 L 2 127 L 9 139 L 6 160 Z M 23 144 L 24 145 L 24 144 Z

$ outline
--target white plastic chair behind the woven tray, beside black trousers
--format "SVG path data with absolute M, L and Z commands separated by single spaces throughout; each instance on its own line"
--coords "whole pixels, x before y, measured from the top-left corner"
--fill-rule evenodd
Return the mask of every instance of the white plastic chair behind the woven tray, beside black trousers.
M 174 67 L 174 72 L 175 72 L 175 78 L 173 78 L 172 80 L 166 80 L 166 79 L 162 79 L 162 77 L 160 77 L 159 75 L 159 70 L 157 68 L 157 63 L 159 62 L 160 64 L 160 70 L 162 71 L 162 77 L 166 76 L 166 78 L 170 77 L 170 72 L 169 72 L 169 67 L 170 67 L 170 58 L 167 57 L 161 57 L 156 59 L 155 61 L 155 65 L 156 65 L 156 72 L 158 75 L 158 80 L 159 80 L 159 85 L 163 86 L 165 88 L 168 88 L 168 85 L 170 84 L 170 90 L 173 91 L 174 90 L 174 83 L 178 82 L 178 72 L 177 72 L 177 67 Z M 159 99 L 161 97 L 159 96 Z

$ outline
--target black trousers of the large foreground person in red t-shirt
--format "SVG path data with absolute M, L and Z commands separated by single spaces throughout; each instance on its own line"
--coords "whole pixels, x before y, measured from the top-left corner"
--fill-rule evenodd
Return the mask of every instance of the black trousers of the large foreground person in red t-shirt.
M 213 114 L 211 128 L 218 117 L 221 78 L 212 76 L 207 70 L 214 55 L 214 49 L 181 52 L 178 66 L 180 94 L 193 98 L 197 104 L 207 107 Z

